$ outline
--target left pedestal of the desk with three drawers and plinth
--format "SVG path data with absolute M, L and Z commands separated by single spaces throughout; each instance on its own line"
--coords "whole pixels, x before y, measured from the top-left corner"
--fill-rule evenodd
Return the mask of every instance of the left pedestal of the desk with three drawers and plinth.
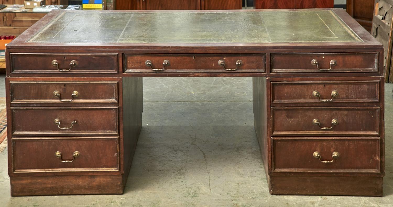
M 7 77 L 6 98 L 12 196 L 123 193 L 141 77 Z

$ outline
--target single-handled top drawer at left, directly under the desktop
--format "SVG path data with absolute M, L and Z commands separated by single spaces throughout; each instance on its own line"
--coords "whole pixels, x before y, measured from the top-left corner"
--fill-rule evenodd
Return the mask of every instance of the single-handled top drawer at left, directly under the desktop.
M 117 73 L 116 53 L 10 53 L 12 73 Z M 58 62 L 53 66 L 52 62 Z M 76 66 L 70 63 L 75 60 Z M 69 70 L 71 68 L 71 70 Z

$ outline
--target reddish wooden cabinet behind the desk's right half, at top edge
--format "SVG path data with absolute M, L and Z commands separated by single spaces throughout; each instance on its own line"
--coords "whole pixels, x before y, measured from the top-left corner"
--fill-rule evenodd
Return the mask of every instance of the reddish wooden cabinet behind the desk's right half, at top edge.
M 255 9 L 333 8 L 333 0 L 254 0 Z

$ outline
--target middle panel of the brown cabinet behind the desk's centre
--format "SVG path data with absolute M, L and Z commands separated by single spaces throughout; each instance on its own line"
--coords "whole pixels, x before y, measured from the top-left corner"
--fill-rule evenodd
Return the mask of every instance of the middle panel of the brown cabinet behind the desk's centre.
M 200 0 L 140 0 L 145 10 L 200 9 Z

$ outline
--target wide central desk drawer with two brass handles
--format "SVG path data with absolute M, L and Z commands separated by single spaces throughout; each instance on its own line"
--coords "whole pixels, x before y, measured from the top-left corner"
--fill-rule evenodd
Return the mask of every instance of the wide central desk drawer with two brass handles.
M 146 61 L 150 60 L 152 66 L 146 66 Z M 169 65 L 163 67 L 164 60 L 169 60 Z M 225 70 L 220 66 L 219 60 L 224 60 L 225 68 L 235 69 L 236 62 L 242 63 L 236 70 Z M 125 73 L 265 73 L 265 54 L 244 54 L 244 55 L 180 55 L 180 54 L 125 54 Z M 162 69 L 154 71 L 153 69 Z

